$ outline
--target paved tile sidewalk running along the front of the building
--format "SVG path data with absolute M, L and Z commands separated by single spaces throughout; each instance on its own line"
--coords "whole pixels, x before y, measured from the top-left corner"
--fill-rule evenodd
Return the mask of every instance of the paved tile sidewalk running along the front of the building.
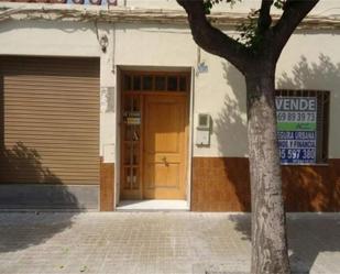
M 0 213 L 1 274 L 246 273 L 250 216 Z M 340 213 L 289 215 L 297 273 L 340 274 Z

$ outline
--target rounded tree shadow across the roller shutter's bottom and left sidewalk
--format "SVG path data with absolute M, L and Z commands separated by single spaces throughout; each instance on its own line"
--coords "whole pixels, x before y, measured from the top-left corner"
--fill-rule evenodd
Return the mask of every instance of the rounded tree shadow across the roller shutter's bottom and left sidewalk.
M 0 185 L 1 207 L 31 209 L 30 212 L 0 213 L 0 253 L 41 244 L 69 228 L 81 206 L 63 182 L 48 167 L 43 166 L 37 151 L 19 142 L 11 150 L 2 147 L 0 153 L 0 182 L 8 182 Z M 28 187 L 24 183 L 20 184 L 28 179 L 35 185 Z M 66 208 L 72 207 L 75 211 L 39 212 L 48 202 L 57 210 L 66 205 Z M 32 211 L 32 208 L 37 208 L 37 211 Z

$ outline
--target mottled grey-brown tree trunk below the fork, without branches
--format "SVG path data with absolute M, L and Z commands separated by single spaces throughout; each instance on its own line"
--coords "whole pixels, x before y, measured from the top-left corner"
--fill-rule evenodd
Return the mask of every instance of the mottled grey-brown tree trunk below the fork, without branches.
M 276 139 L 275 69 L 245 76 L 252 202 L 252 274 L 290 273 L 279 154 Z

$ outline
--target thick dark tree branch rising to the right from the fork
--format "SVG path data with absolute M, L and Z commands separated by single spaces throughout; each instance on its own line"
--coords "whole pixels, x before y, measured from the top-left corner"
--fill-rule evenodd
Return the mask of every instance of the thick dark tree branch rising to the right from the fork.
M 273 50 L 275 61 L 286 45 L 294 30 L 308 14 L 308 12 L 319 2 L 319 0 L 287 0 L 284 6 L 284 12 L 273 28 L 274 40 Z

